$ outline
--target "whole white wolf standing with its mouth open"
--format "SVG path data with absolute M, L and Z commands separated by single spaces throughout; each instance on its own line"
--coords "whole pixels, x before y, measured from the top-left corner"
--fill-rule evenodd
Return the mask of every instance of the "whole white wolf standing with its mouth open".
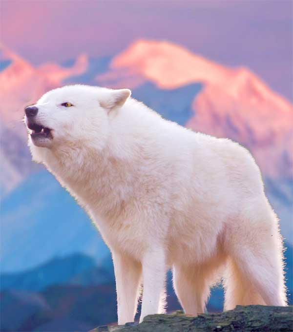
M 225 310 L 286 305 L 278 220 L 251 154 L 129 98 L 71 85 L 25 109 L 33 159 L 78 200 L 112 253 L 118 324 L 164 311 L 165 275 L 187 314 L 223 277 Z

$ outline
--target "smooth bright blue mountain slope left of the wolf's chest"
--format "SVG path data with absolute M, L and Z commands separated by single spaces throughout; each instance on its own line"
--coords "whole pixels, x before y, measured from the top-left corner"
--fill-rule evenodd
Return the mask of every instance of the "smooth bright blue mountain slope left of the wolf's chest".
M 1 202 L 1 272 L 33 268 L 80 252 L 96 261 L 109 251 L 84 210 L 43 170 Z

